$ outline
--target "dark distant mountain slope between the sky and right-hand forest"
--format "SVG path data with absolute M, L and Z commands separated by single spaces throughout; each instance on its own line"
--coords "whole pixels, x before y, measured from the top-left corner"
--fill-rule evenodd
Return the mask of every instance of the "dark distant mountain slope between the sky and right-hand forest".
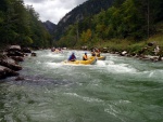
M 106 10 L 112 3 L 113 0 L 88 0 L 76 6 L 59 22 L 54 32 L 55 40 L 59 40 L 64 35 L 70 25 L 89 18 L 101 10 Z

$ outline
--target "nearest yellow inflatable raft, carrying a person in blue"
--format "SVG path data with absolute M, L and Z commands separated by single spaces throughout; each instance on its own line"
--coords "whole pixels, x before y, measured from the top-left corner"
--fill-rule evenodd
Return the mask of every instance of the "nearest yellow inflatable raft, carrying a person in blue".
M 88 58 L 88 60 L 75 60 L 75 62 L 63 62 L 64 64 L 71 64 L 71 65 L 93 65 L 97 62 L 96 57 L 91 56 Z

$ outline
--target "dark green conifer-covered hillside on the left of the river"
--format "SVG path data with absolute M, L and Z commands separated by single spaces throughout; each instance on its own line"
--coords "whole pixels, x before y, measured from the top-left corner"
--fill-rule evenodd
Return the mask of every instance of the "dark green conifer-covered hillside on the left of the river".
M 51 36 L 33 6 L 25 6 L 23 0 L 0 0 L 0 43 L 46 48 Z

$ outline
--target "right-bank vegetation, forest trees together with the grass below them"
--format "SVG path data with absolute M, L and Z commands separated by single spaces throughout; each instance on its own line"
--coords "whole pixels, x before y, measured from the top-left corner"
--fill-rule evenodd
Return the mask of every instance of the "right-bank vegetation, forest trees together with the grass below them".
M 147 49 L 145 55 L 155 55 L 153 51 L 159 45 L 159 55 L 162 55 L 162 0 L 114 0 L 108 10 L 85 16 L 66 27 L 54 44 L 73 49 L 83 45 L 88 49 L 108 48 L 109 52 L 128 53 L 142 53 Z M 148 43 L 153 43 L 153 46 L 147 46 Z

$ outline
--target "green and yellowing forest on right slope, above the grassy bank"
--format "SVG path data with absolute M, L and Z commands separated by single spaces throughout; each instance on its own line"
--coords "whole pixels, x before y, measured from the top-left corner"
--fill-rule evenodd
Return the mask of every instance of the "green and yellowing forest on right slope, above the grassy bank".
M 163 0 L 115 0 L 108 10 L 68 26 L 57 44 L 93 45 L 113 39 L 140 42 L 163 32 L 162 12 Z

